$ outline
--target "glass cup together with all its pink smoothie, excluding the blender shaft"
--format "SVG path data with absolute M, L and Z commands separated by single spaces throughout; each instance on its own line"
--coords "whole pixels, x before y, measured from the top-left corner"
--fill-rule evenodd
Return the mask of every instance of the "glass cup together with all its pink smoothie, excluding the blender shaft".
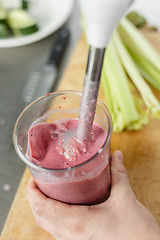
M 97 101 L 91 137 L 76 139 L 81 94 L 62 91 L 41 97 L 19 116 L 14 145 L 37 186 L 71 204 L 96 204 L 110 194 L 112 121 Z

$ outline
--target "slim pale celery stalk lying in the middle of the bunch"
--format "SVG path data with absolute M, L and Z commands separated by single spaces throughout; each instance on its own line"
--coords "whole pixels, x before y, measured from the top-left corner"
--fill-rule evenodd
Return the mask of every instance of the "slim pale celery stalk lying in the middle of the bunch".
M 117 31 L 113 34 L 113 43 L 125 70 L 140 92 L 146 106 L 149 107 L 154 114 L 159 114 L 160 103 L 138 71 Z

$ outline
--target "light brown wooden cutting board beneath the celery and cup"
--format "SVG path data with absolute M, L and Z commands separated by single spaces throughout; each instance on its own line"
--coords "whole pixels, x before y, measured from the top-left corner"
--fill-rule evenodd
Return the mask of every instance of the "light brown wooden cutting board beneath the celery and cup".
M 160 52 L 160 34 L 144 32 Z M 87 44 L 82 36 L 73 52 L 59 90 L 81 90 L 87 60 Z M 160 99 L 160 94 L 155 92 Z M 102 88 L 99 98 L 105 102 Z M 124 153 L 124 163 L 137 199 L 144 204 L 160 225 L 160 120 L 152 120 L 140 131 L 113 134 L 112 151 Z M 0 240 L 53 240 L 37 226 L 26 199 L 26 185 L 30 178 L 25 170 L 15 195 Z M 117 199 L 118 201 L 118 199 Z

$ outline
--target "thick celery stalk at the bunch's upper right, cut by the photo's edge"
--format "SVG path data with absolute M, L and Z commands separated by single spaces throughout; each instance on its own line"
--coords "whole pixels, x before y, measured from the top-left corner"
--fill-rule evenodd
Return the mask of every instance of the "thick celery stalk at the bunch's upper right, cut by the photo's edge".
M 124 43 L 137 55 L 141 55 L 160 70 L 160 55 L 141 34 L 141 32 L 126 18 L 121 19 L 118 31 Z

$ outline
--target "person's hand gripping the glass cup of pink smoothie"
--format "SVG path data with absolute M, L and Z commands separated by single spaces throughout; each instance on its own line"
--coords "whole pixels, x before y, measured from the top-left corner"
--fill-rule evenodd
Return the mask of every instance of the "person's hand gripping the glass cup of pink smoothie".
M 111 177 L 109 199 L 92 206 L 48 198 L 31 179 L 27 197 L 37 224 L 57 240 L 159 240 L 156 221 L 131 190 L 120 151 L 112 155 Z

